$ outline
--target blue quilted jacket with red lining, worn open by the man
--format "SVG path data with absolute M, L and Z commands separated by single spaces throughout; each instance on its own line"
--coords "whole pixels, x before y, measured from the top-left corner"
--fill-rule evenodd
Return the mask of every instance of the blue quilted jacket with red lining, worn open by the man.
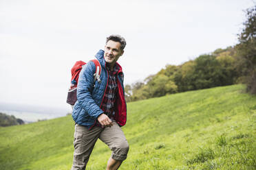
M 100 50 L 96 53 L 96 59 L 100 62 L 101 82 L 94 83 L 94 73 L 96 66 L 94 62 L 89 61 L 79 75 L 77 86 L 77 101 L 74 104 L 72 117 L 78 125 L 84 125 L 88 128 L 93 127 L 103 110 L 100 108 L 103 102 L 103 96 L 107 88 L 108 72 L 105 67 L 104 51 Z M 118 63 L 116 63 L 118 64 Z M 125 88 L 123 86 L 122 67 L 118 64 L 118 96 L 116 97 L 114 119 L 118 125 L 125 125 L 127 119 L 127 106 L 125 102 Z M 95 84 L 95 86 L 94 86 Z

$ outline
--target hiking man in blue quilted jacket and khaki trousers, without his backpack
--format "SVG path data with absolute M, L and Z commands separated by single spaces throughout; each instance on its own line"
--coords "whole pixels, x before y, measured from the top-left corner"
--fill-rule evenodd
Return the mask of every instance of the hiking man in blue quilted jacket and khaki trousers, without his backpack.
M 72 112 L 76 122 L 72 170 L 85 169 L 98 138 L 112 151 L 107 169 L 118 169 L 127 158 L 129 145 L 120 128 L 126 123 L 127 107 L 122 67 L 117 63 L 125 45 L 125 39 L 121 36 L 111 35 L 107 38 L 105 51 L 100 50 L 96 54 L 101 66 L 100 81 L 94 82 L 94 62 L 88 62 L 81 70 L 77 86 L 78 100 Z

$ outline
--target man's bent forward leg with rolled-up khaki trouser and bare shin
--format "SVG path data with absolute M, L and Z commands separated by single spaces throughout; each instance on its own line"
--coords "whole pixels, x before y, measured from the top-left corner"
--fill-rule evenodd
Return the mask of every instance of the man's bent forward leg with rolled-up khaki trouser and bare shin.
M 100 140 L 109 146 L 112 150 L 111 158 L 107 162 L 107 170 L 116 170 L 122 164 L 122 161 L 127 158 L 129 144 L 116 121 L 113 121 L 111 127 L 105 127 L 100 133 Z

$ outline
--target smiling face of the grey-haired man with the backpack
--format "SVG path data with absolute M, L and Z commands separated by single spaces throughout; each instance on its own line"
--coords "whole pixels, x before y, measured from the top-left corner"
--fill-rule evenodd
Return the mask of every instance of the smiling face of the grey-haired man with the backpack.
M 110 66 L 114 66 L 114 64 L 116 64 L 116 61 L 120 56 L 122 56 L 122 53 L 124 53 L 124 51 L 121 50 L 120 42 L 109 40 L 105 45 L 104 58 Z

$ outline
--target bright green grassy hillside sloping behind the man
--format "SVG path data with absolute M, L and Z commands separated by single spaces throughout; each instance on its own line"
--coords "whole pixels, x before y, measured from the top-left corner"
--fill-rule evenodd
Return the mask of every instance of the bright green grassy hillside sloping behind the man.
M 127 104 L 130 144 L 120 169 L 256 169 L 256 97 L 244 86 L 178 93 Z M 71 116 L 0 128 L 0 169 L 70 169 Z M 101 141 L 87 169 L 105 169 Z

